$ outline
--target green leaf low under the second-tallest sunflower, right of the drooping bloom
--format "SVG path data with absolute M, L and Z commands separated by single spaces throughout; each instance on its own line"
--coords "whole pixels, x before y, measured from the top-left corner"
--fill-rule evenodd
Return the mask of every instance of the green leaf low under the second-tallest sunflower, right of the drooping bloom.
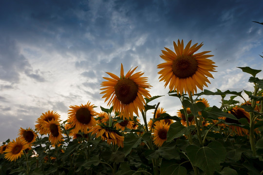
M 124 136 L 124 154 L 125 157 L 131 152 L 132 148 L 137 148 L 137 146 L 141 143 L 142 138 L 135 136 L 135 133 L 128 133 Z

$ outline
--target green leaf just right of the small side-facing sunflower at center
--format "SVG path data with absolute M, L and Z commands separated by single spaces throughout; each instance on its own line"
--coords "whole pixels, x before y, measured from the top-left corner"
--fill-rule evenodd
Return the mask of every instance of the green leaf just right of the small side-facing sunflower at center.
M 183 126 L 180 121 L 172 123 L 167 133 L 167 141 L 179 138 L 183 135 L 188 135 L 190 130 L 194 130 L 195 126 L 190 125 L 188 127 Z

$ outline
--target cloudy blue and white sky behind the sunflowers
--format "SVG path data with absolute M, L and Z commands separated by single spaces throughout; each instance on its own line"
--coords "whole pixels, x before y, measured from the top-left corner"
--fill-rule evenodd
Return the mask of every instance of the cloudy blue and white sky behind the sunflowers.
M 163 95 L 151 105 L 176 115 L 180 101 L 156 67 L 178 39 L 203 42 L 198 52 L 214 55 L 217 72 L 205 89 L 253 90 L 237 68 L 263 68 L 263 25 L 252 21 L 263 22 L 262 0 L 0 0 L 0 142 L 34 128 L 48 110 L 64 121 L 70 105 L 110 108 L 100 84 L 121 63 L 125 73 L 144 72 L 151 96 Z M 217 96 L 202 98 L 220 106 Z

